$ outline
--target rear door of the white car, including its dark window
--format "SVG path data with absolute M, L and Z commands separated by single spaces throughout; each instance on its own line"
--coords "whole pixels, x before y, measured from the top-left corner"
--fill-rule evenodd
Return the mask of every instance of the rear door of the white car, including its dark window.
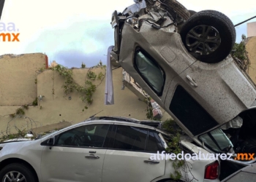
M 114 125 L 107 138 L 102 181 L 148 182 L 165 174 L 165 160 L 151 160 L 162 150 L 154 130 L 128 125 Z

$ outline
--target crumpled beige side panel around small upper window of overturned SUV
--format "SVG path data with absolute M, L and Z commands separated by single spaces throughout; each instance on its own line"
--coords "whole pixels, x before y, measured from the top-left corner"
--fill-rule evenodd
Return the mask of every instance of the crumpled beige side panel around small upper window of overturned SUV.
M 195 61 L 174 29 L 142 23 L 138 31 L 124 23 L 118 63 L 159 106 L 164 107 L 170 82 Z

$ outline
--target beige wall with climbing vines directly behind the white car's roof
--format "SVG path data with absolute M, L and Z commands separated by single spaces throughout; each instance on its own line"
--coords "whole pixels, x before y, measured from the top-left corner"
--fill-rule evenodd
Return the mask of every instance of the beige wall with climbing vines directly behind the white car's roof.
M 88 70 L 89 68 L 72 69 L 75 82 L 84 85 Z M 102 71 L 105 74 L 105 70 L 102 68 L 93 68 L 91 71 L 96 74 Z M 25 110 L 25 116 L 15 119 L 12 119 L 9 114 L 15 113 L 18 106 L 0 106 L 0 131 L 6 132 L 8 126 L 12 127 L 12 132 L 15 131 L 15 127 L 20 130 L 29 130 L 31 127 L 58 123 L 62 120 L 78 123 L 102 110 L 97 116 L 126 116 L 135 119 L 146 119 L 146 103 L 140 101 L 127 87 L 122 90 L 122 68 L 113 70 L 114 105 L 104 105 L 105 79 L 102 82 L 99 80 L 92 82 L 98 85 L 93 96 L 94 101 L 87 110 L 82 111 L 86 103 L 83 103 L 79 98 L 78 92 L 72 92 L 65 96 L 64 90 L 61 88 L 64 79 L 59 76 L 59 73 L 51 70 L 43 71 L 37 76 L 37 95 L 45 96 L 42 101 L 39 101 L 39 106 L 29 106 L 29 109 Z M 28 87 L 31 87 L 31 85 L 34 87 L 34 80 L 30 80 L 29 85 Z M 26 95 L 26 91 L 21 89 L 18 91 Z M 26 97 L 29 97 L 29 94 Z M 37 95 L 33 93 L 32 98 L 34 99 Z M 71 100 L 68 99 L 69 96 Z M 24 103 L 31 103 L 31 100 L 24 100 Z M 164 113 L 162 120 L 168 118 L 170 116 Z

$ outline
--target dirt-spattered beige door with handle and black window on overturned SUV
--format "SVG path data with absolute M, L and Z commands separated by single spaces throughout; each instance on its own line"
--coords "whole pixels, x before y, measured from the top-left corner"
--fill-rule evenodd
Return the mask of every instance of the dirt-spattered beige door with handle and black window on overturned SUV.
M 252 84 L 229 58 L 214 65 L 194 63 L 176 76 L 167 92 L 165 108 L 193 137 L 234 119 L 255 98 Z

